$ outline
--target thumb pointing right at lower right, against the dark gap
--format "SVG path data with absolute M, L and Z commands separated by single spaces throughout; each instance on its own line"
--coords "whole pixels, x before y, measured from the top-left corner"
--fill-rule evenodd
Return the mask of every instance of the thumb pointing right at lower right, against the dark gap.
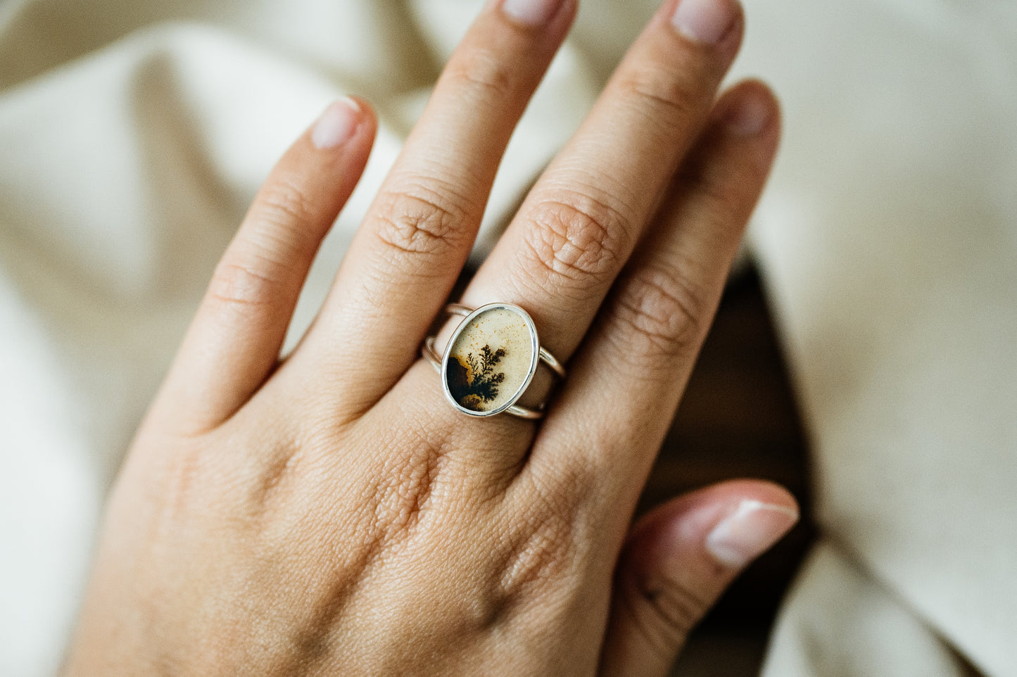
M 602 677 L 664 677 L 724 589 L 798 519 L 794 498 L 761 481 L 707 487 L 637 522 L 618 561 Z

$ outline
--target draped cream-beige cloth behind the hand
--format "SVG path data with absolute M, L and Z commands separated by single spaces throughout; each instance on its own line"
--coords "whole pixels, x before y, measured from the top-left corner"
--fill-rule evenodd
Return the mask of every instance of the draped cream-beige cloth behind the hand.
M 0 0 L 0 674 L 51 675 L 105 492 L 228 239 L 332 98 L 382 129 L 307 324 L 478 0 Z M 584 0 L 477 255 L 653 9 Z M 819 545 L 768 677 L 1017 675 L 1017 4 L 749 0 L 752 243 Z

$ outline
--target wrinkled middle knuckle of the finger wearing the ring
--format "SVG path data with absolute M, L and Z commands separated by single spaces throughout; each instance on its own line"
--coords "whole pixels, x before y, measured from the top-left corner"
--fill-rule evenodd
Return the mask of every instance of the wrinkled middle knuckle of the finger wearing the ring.
M 527 230 L 527 253 L 544 274 L 581 279 L 612 274 L 630 247 L 632 220 L 588 195 L 539 203 Z

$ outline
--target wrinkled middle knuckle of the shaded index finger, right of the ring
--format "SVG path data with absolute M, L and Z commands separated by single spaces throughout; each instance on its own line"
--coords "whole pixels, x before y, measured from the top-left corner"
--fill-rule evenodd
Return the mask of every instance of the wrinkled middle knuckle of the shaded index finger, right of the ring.
M 621 286 L 612 304 L 612 320 L 623 328 L 621 354 L 643 369 L 663 366 L 675 356 L 695 351 L 709 314 L 706 290 L 677 267 L 638 269 Z

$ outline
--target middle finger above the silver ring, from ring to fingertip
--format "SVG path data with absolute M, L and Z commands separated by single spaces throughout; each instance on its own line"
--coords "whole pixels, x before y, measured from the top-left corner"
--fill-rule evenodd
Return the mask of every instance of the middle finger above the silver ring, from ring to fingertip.
M 567 360 L 702 129 L 741 33 L 736 0 L 665 2 L 464 303 L 521 305 Z

